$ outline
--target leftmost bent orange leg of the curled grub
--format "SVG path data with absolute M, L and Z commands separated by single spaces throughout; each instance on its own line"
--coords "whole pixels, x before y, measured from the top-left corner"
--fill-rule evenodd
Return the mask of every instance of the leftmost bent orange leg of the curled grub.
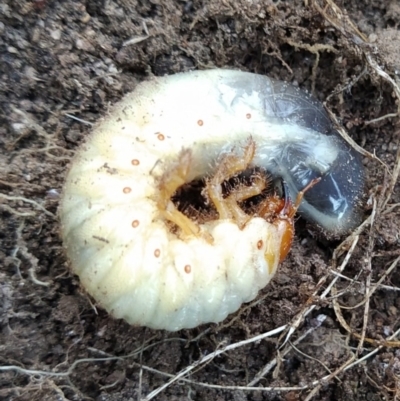
M 161 177 L 159 184 L 158 208 L 162 216 L 176 224 L 184 236 L 198 236 L 200 227 L 180 212 L 171 198 L 178 188 L 184 185 L 187 180 L 190 163 L 192 162 L 192 152 L 189 149 L 183 150 L 176 163 L 168 168 Z

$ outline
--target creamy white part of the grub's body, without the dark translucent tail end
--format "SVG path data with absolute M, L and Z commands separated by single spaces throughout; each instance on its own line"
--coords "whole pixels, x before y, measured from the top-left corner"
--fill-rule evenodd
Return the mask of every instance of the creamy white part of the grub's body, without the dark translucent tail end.
M 182 240 L 155 201 L 160 177 L 185 148 L 193 153 L 190 181 L 212 174 L 221 155 L 240 152 L 250 135 L 263 150 L 256 149 L 255 165 L 304 136 L 322 152 L 331 146 L 317 132 L 271 119 L 260 93 L 231 85 L 241 74 L 253 76 L 211 70 L 138 85 L 74 158 L 60 207 L 62 237 L 73 271 L 113 316 L 166 330 L 219 322 L 273 277 L 281 235 L 272 224 L 257 217 L 241 230 L 215 220 L 202 227 L 213 243 Z

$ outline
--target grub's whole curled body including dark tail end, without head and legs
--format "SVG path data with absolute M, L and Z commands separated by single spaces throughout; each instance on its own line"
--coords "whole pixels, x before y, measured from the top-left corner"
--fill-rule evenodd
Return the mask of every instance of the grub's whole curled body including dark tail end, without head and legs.
M 233 70 L 156 78 L 97 124 L 63 190 L 66 253 L 102 307 L 179 330 L 222 321 L 270 281 L 283 241 L 274 221 L 248 216 L 240 225 L 217 207 L 220 218 L 182 223 L 169 199 L 171 188 L 212 176 L 224 155 L 239 162 L 250 136 L 248 163 L 282 178 L 292 199 L 321 178 L 300 205 L 307 219 L 335 234 L 359 222 L 360 158 L 308 94 Z

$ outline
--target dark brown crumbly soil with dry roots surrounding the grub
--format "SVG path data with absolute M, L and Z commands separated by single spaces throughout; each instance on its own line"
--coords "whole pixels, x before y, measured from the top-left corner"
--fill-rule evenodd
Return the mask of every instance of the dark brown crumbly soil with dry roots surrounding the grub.
M 398 399 L 399 21 L 398 0 L 3 0 L 0 398 Z M 327 101 L 365 150 L 366 223 L 341 242 L 299 220 L 274 281 L 221 324 L 131 327 L 69 271 L 63 180 L 138 82 L 213 67 Z

